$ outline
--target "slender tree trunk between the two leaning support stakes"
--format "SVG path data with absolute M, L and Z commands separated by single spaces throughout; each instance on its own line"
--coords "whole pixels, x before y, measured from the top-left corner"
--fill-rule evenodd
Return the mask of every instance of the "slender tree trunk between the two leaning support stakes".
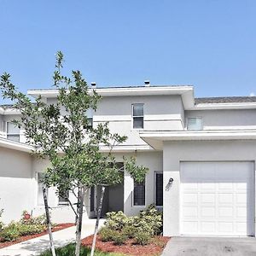
M 80 255 L 80 247 L 81 247 L 81 231 L 82 231 L 82 220 L 83 220 L 83 207 L 84 207 L 84 187 L 79 188 L 79 206 L 78 206 L 78 221 L 77 221 L 77 232 L 76 232 L 76 250 L 75 255 Z

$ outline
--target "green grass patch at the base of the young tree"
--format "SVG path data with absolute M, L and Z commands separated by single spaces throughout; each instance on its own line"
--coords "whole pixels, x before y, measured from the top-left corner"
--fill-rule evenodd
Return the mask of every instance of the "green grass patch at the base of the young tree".
M 67 245 L 66 247 L 61 247 L 56 249 L 56 256 L 74 256 L 75 255 L 75 245 L 73 243 Z M 50 250 L 40 254 L 40 256 L 51 256 Z M 81 247 L 81 256 L 88 256 L 90 255 L 90 248 L 88 247 Z M 122 253 L 104 253 L 96 251 L 95 256 L 125 256 Z

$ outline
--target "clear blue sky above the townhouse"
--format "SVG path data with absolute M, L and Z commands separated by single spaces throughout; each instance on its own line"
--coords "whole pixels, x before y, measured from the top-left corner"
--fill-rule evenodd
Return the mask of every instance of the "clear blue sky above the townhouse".
M 0 0 L 0 73 L 20 90 L 65 72 L 99 86 L 193 84 L 195 96 L 256 93 L 256 1 Z

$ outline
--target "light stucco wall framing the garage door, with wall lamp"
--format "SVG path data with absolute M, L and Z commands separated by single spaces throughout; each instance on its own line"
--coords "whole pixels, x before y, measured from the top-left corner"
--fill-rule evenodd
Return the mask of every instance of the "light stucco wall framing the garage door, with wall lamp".
M 165 142 L 164 169 L 164 236 L 179 236 L 179 188 L 181 161 L 253 161 L 256 160 L 253 141 L 190 141 Z M 166 190 L 170 177 L 172 187 Z

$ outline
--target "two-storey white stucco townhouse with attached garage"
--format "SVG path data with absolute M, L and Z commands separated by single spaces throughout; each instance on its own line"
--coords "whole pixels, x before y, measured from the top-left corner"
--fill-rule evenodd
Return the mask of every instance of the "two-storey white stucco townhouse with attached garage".
M 164 214 L 165 236 L 255 236 L 256 97 L 195 98 L 193 86 L 96 88 L 102 101 L 88 113 L 93 125 L 108 121 L 128 140 L 114 148 L 148 166 L 144 183 L 124 173 L 109 187 L 103 214 L 137 214 L 155 203 Z M 57 90 L 29 90 L 45 102 Z M 47 161 L 35 159 L 12 106 L 0 108 L 0 209 L 3 221 L 23 210 L 44 212 L 40 175 Z M 104 150 L 104 148 L 102 148 Z M 85 198 L 87 218 L 96 214 L 99 188 Z M 70 193 L 70 200 L 73 201 Z M 48 190 L 55 222 L 73 221 L 67 201 Z

